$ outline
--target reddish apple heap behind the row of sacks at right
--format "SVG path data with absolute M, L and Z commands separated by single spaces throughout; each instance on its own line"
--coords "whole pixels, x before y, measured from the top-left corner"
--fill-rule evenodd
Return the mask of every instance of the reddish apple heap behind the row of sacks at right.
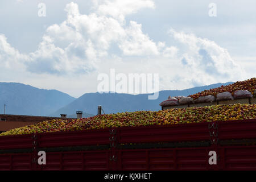
M 222 93 L 222 92 L 230 92 L 234 96 L 234 92 L 236 90 L 248 90 L 249 92 L 251 92 L 251 94 L 254 94 L 255 89 L 256 89 L 256 78 L 250 78 L 245 81 L 237 81 L 234 84 L 230 84 L 226 86 L 222 85 L 218 88 L 204 90 L 203 92 L 193 94 L 189 97 L 192 97 L 193 99 L 197 99 L 200 96 L 209 96 L 209 95 L 216 97 L 218 93 Z

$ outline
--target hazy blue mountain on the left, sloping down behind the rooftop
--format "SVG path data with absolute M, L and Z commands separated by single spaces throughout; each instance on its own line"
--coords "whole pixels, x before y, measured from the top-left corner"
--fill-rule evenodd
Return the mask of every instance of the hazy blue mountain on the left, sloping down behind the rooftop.
M 6 114 L 46 116 L 75 99 L 58 90 L 38 89 L 15 82 L 0 82 L 0 113 L 3 113 L 6 104 Z

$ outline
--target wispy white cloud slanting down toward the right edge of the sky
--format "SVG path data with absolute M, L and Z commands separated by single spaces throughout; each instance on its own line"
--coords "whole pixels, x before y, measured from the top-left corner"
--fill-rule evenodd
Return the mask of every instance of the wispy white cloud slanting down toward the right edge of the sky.
M 171 30 L 170 34 L 187 46 L 184 57 L 189 66 L 195 69 L 211 66 L 213 73 L 217 72 L 222 76 L 226 74 L 229 77 L 237 77 L 242 73 L 241 67 L 234 62 L 228 50 L 218 46 L 215 42 L 174 30 Z

